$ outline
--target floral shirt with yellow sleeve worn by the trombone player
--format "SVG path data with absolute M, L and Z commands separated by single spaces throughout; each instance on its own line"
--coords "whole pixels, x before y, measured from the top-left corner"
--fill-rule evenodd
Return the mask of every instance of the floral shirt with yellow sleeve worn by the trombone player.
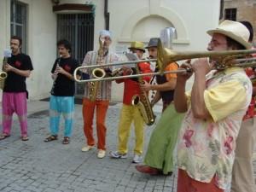
M 189 110 L 177 143 L 177 164 L 189 177 L 226 189 L 231 179 L 236 137 L 251 101 L 252 83 L 243 69 L 233 67 L 207 74 L 204 99 L 212 119 L 195 119 Z

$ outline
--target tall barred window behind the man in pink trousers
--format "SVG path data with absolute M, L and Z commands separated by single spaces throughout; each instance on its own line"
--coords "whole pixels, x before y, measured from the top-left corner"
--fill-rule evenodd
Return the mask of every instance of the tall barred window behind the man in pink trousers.
M 27 6 L 25 3 L 20 3 L 17 0 L 11 0 L 10 7 L 10 32 L 11 36 L 19 36 L 22 38 L 22 52 L 26 53 L 26 12 Z

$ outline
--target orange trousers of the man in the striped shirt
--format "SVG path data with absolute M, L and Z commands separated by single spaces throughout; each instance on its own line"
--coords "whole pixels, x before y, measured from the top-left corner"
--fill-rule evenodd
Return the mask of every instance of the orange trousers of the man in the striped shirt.
M 106 150 L 106 131 L 105 118 L 108 111 L 108 101 L 90 102 L 89 99 L 83 100 L 83 117 L 84 117 L 84 136 L 87 138 L 87 144 L 95 145 L 93 137 L 93 116 L 96 108 L 96 131 L 98 137 L 97 148 Z

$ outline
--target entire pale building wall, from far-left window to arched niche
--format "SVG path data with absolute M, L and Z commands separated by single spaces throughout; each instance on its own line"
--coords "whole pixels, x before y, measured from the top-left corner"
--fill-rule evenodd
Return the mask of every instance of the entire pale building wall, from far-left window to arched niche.
M 30 99 L 49 96 L 52 86 L 50 69 L 55 61 L 56 14 L 51 0 L 20 0 L 28 6 L 27 54 L 32 57 L 34 71 L 27 79 Z M 103 0 L 60 0 L 61 3 L 93 3 L 95 10 L 94 47 L 98 32 L 105 27 Z M 119 54 L 127 50 L 131 41 L 148 43 L 158 37 L 166 26 L 177 29 L 173 48 L 179 50 L 206 50 L 210 37 L 206 31 L 218 26 L 219 0 L 110 0 L 110 31 L 112 49 Z M 75 11 L 76 12 L 76 11 Z M 75 13 L 71 11 L 71 13 Z M 0 1 L 0 51 L 9 47 L 10 0 Z M 85 54 L 85 53 L 84 53 Z M 122 86 L 113 84 L 113 101 L 122 100 Z

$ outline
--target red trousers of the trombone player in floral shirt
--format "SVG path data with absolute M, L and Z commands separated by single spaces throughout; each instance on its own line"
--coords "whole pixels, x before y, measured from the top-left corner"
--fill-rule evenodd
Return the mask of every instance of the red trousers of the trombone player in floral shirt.
M 202 183 L 195 181 L 189 177 L 187 172 L 178 169 L 177 176 L 177 192 L 224 192 L 224 189 L 219 189 L 214 182 L 215 176 L 211 183 Z

